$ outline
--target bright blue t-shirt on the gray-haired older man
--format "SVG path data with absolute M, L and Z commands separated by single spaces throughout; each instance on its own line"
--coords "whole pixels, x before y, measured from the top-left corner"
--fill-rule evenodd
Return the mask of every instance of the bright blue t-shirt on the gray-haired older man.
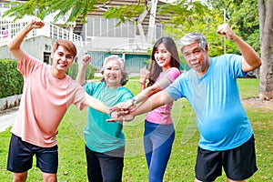
M 167 88 L 176 100 L 186 97 L 196 112 L 200 131 L 199 147 L 223 151 L 244 144 L 253 131 L 241 104 L 237 77 L 246 76 L 242 56 L 212 57 L 204 76 L 193 69 L 182 74 Z

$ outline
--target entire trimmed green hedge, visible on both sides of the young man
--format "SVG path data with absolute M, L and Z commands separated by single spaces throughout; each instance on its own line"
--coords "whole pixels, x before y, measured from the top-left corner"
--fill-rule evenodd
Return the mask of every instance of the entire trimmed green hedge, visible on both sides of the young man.
M 78 65 L 75 63 L 67 69 L 66 74 L 76 79 L 77 72 Z M 86 79 L 93 79 L 94 75 L 95 67 L 88 66 Z M 23 85 L 24 79 L 17 70 L 17 61 L 0 59 L 0 98 L 22 94 Z

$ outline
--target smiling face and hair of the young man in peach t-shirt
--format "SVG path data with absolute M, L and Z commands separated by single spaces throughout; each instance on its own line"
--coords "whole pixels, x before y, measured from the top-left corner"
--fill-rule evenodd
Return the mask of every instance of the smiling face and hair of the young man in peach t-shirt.
M 74 56 L 72 53 L 67 51 L 62 45 L 58 45 L 56 51 L 51 54 L 53 58 L 52 68 L 54 70 L 54 76 L 66 74 L 66 70 L 74 61 Z

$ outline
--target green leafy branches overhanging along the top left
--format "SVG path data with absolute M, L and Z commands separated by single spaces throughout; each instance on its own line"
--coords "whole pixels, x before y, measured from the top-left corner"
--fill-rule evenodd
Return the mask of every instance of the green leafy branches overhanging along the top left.
M 35 15 L 43 20 L 46 15 L 57 13 L 55 21 L 69 15 L 66 23 L 75 22 L 78 18 L 82 23 L 86 23 L 88 13 L 96 8 L 104 8 L 106 18 L 116 17 L 120 22 L 125 22 L 126 18 L 136 17 L 147 9 L 147 1 L 143 0 L 133 1 L 131 5 L 109 8 L 112 4 L 113 2 L 109 0 L 29 0 L 9 3 L 13 7 L 5 11 L 4 16 L 14 16 L 16 20 L 23 18 L 24 15 Z

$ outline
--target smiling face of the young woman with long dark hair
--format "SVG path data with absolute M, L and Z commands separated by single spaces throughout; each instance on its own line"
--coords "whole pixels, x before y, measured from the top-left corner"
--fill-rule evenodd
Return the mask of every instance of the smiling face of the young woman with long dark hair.
M 166 45 L 160 44 L 157 46 L 157 49 L 155 50 L 155 59 L 158 66 L 162 67 L 163 70 L 167 70 L 171 67 L 171 58 L 172 55 L 167 51 Z

